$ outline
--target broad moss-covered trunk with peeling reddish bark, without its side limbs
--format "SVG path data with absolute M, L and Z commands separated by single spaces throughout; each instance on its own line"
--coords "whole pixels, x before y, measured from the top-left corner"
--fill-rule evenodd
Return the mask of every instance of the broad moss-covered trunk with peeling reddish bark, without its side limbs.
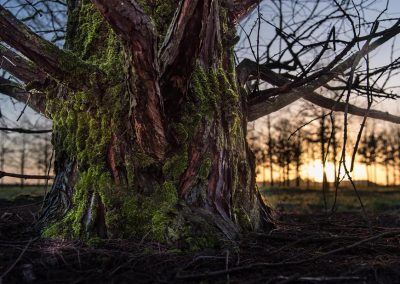
M 142 6 L 160 33 L 156 48 L 171 36 L 164 27 L 177 2 Z M 199 248 L 221 236 L 271 228 L 246 141 L 245 96 L 233 63 L 235 29 L 218 1 L 207 2 L 192 11 L 193 23 L 203 17 L 198 29 L 204 40 L 196 46 L 191 35 L 176 43 L 184 52 L 171 67 L 157 66 L 154 46 L 127 48 L 126 34 L 117 36 L 103 18 L 126 27 L 112 8 L 100 15 L 89 1 L 69 1 L 66 47 L 99 66 L 104 80 L 86 91 L 52 90 L 56 99 L 47 111 L 54 121 L 56 178 L 40 221 L 57 221 L 45 234 Z M 174 48 L 165 47 L 166 56 Z

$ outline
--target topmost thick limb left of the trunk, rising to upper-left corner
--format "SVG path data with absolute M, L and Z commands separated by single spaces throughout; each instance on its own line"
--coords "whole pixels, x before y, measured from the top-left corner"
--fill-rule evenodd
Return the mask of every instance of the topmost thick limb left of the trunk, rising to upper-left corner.
M 40 69 L 74 89 L 101 84 L 101 72 L 70 52 L 57 48 L 29 30 L 0 5 L 0 40 L 20 51 Z M 93 80 L 94 79 L 94 80 Z

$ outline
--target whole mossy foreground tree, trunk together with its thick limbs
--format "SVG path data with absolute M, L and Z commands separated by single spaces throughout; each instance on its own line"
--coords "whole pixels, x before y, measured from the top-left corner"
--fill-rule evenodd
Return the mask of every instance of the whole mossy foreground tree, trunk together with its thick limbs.
M 25 83 L 0 78 L 0 92 L 54 121 L 56 178 L 39 220 L 48 235 L 199 247 L 218 235 L 233 239 L 270 228 L 246 117 L 303 98 L 330 111 L 400 123 L 398 116 L 316 91 L 398 34 L 397 24 L 363 37 L 368 48 L 324 72 L 292 81 L 269 69 L 275 65 L 269 61 L 234 66 L 235 23 L 259 0 L 67 3 L 64 50 L 0 5 L 1 68 Z M 255 79 L 277 88 L 246 95 L 242 86 Z M 284 165 L 281 170 L 284 176 Z

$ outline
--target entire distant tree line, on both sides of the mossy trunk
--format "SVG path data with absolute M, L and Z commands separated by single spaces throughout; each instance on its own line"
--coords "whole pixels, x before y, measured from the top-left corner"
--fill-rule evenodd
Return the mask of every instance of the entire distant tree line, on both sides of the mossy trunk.
M 315 187 L 315 180 L 302 174 L 302 167 L 319 160 L 323 173 L 322 187 L 332 186 L 332 182 L 328 182 L 326 165 L 328 162 L 333 164 L 337 179 L 343 130 L 342 122 L 337 120 L 326 112 L 312 110 L 300 121 L 268 116 L 261 122 L 260 131 L 250 129 L 248 139 L 255 153 L 262 185 Z M 34 128 L 27 120 L 22 125 L 25 129 Z M 52 152 L 50 133 L 0 131 L 0 141 L 0 171 L 48 175 Z M 365 167 L 367 186 L 379 183 L 379 167 L 384 170 L 385 185 L 397 185 L 400 179 L 400 128 L 393 125 L 368 127 L 360 139 L 356 161 Z M 0 183 L 4 184 L 4 179 L 0 179 Z M 19 183 L 24 186 L 25 180 L 21 178 Z

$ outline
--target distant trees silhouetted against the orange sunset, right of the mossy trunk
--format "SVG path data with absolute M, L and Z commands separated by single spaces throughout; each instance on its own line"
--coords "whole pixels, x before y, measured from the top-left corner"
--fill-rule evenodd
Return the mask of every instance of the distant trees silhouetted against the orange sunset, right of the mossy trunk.
M 335 187 L 341 180 L 343 122 L 340 119 L 321 110 L 312 110 L 300 120 L 268 116 L 257 128 L 250 127 L 248 139 L 254 149 L 262 186 L 322 186 L 324 190 Z M 350 162 L 355 151 L 354 163 L 364 167 L 365 176 L 353 174 L 353 179 L 363 180 L 368 187 L 397 185 L 400 179 L 400 128 L 371 124 L 360 135 L 357 146 L 355 137 L 351 137 L 354 141 L 346 147 L 347 161 Z M 318 183 L 313 173 L 302 171 L 303 167 L 317 161 L 317 167 L 321 167 L 318 171 L 322 172 L 322 180 Z M 333 167 L 327 169 L 328 164 Z M 343 170 L 341 174 L 344 174 Z M 334 181 L 328 181 L 328 176 L 334 176 Z

